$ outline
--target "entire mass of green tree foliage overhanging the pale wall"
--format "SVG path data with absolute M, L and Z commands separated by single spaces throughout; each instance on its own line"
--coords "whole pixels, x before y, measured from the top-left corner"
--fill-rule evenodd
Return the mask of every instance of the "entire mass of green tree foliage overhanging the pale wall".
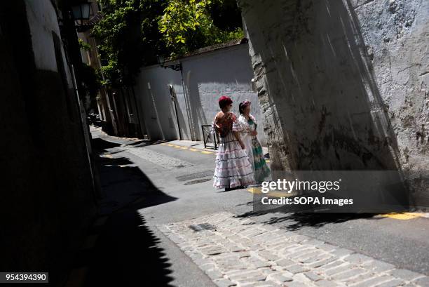
M 104 78 L 133 84 L 156 55 L 184 53 L 243 37 L 235 0 L 98 0 L 102 19 L 93 33 Z

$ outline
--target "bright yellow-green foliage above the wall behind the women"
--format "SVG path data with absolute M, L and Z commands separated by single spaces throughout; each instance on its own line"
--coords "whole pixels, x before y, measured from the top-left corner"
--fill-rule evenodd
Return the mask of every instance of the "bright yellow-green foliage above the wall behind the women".
M 164 12 L 159 29 L 172 56 L 243 37 L 235 2 L 231 6 L 231 1 L 224 0 L 170 0 Z M 236 16 L 235 25 L 222 17 L 228 12 Z M 221 25 L 215 25 L 214 19 Z

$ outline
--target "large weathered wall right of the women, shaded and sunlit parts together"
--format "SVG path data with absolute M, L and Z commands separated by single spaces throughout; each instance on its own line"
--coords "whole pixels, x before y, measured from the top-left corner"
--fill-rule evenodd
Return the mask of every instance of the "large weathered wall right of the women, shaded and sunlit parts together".
M 427 170 L 428 1 L 238 2 L 274 169 Z

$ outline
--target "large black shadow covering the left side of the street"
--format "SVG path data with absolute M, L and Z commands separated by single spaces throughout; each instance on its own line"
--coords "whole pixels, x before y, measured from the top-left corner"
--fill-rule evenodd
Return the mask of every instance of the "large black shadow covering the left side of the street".
M 97 140 L 93 147 L 102 152 L 111 145 Z M 170 263 L 138 211 L 176 198 L 157 189 L 139 168 L 120 163 L 132 161 L 125 157 L 97 160 L 104 199 L 95 222 L 102 223 L 89 230 L 93 243 L 84 244 L 74 263 L 75 270 L 86 269 L 79 286 L 171 286 Z

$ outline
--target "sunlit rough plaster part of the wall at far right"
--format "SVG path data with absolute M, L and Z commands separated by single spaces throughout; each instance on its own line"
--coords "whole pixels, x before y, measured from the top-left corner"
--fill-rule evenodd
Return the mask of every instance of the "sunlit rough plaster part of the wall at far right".
M 429 168 L 429 1 L 353 3 L 402 167 Z

